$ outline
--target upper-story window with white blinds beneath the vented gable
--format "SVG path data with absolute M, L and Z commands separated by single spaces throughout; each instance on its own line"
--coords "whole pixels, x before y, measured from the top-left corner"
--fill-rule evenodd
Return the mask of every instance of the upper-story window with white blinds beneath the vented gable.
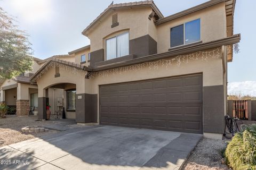
M 106 40 L 106 60 L 129 55 L 129 32 Z

